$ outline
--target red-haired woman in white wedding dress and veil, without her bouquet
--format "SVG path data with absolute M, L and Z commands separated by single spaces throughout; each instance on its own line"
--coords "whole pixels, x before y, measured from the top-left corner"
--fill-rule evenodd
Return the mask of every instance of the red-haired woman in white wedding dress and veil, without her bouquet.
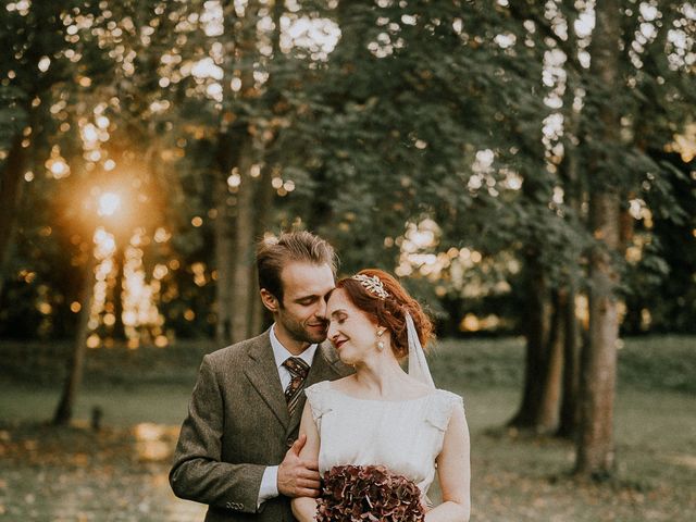
M 326 316 L 328 338 L 356 373 L 306 389 L 300 458 L 319 461 L 322 475 L 346 464 L 385 467 L 418 485 L 426 522 L 468 521 L 464 409 L 461 397 L 435 389 L 422 348 L 432 324 L 420 304 L 387 273 L 363 270 L 336 284 Z M 399 364 L 407 356 L 408 373 Z M 436 471 L 443 504 L 430 508 Z M 295 498 L 293 512 L 313 521 L 318 501 Z

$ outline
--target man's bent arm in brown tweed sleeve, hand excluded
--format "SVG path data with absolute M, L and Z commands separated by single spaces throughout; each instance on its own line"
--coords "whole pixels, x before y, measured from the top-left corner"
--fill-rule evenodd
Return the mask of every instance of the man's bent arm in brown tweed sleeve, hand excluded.
M 265 465 L 221 461 L 223 400 L 209 356 L 203 358 L 170 472 L 177 497 L 256 512 Z

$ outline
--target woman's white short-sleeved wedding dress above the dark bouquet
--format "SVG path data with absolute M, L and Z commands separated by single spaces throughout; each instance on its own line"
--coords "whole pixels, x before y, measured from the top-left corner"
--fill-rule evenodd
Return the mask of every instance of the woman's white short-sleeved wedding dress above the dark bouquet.
M 435 459 L 461 397 L 443 389 L 415 399 L 350 397 L 324 381 L 306 388 L 319 431 L 319 471 L 335 465 L 385 465 L 413 481 L 423 496 L 435 477 Z

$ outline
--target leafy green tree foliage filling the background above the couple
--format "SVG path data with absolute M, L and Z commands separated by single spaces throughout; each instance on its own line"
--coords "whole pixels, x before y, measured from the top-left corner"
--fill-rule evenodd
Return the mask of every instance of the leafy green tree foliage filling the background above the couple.
M 269 227 L 320 232 L 339 250 L 344 272 L 393 270 L 408 227 L 423 220 L 438 232 L 422 253 L 480 253 L 482 261 L 461 277 L 445 268 L 435 278 L 417 266 L 407 283 L 451 331 L 469 309 L 498 309 L 506 324 L 519 322 L 527 272 L 508 266 L 530 259 L 550 287 L 573 281 L 582 288 L 595 241 L 585 195 L 616 188 L 624 202 L 644 200 L 656 222 L 654 228 L 634 223 L 636 234 L 652 239 L 642 262 L 623 266 L 627 316 L 649 308 L 656 325 L 691 324 L 669 320 L 686 316 L 687 304 L 679 313 L 655 297 L 667 293 L 664 301 L 688 303 L 694 291 L 693 264 L 680 264 L 671 237 L 679 231 L 691 252 L 688 170 L 654 152 L 696 119 L 688 50 L 668 37 L 670 30 L 693 36 L 681 2 L 662 2 L 651 20 L 649 10 L 625 2 L 617 85 L 605 85 L 577 52 L 592 51 L 589 39 L 573 30 L 588 9 L 583 2 L 302 1 L 293 10 L 222 2 L 214 30 L 207 25 L 213 3 L 71 0 L 3 15 L 0 45 L 13 52 L 0 58 L 0 150 L 30 126 L 35 179 L 25 194 L 23 245 L 3 274 L 11 282 L 3 302 L 21 304 L 2 309 L 1 333 L 40 330 L 39 287 L 54 296 L 50 323 L 65 325 L 46 332 L 72 331 L 66 307 L 91 232 L 83 229 L 91 222 L 79 198 L 85 187 L 111 186 L 130 186 L 142 198 L 129 225 L 146 229 L 146 265 L 176 261 L 162 281 L 163 294 L 176 288 L 160 303 L 167 326 L 182 335 L 209 333 L 219 219 L 212 211 L 227 189 L 234 214 L 237 194 L 226 181 L 245 147 L 283 186 Z M 286 27 L 302 17 L 340 29 L 325 59 L 281 38 L 287 37 L 278 33 L 281 21 Z M 641 33 L 646 24 L 655 29 L 649 37 Z M 556 71 L 549 83 L 545 60 L 558 53 L 562 74 Z M 50 66 L 37 74 L 44 57 Z M 203 59 L 217 69 L 195 74 Z M 561 77 L 564 91 L 554 104 L 548 100 Z M 612 142 L 602 134 L 607 100 L 620 121 Z M 109 139 L 92 161 L 79 130 L 97 104 L 109 117 Z M 558 115 L 563 134 L 549 138 L 543 129 Z M 54 145 L 71 164 L 66 179 L 44 175 Z M 107 159 L 117 169 L 107 171 Z M 201 226 L 191 225 L 195 217 Z M 53 232 L 41 239 L 46 226 Z M 172 239 L 158 246 L 152 238 L 160 227 Z M 202 287 L 192 282 L 194 263 L 206 266 Z M 18 278 L 22 270 L 36 273 L 33 283 Z M 687 283 L 671 282 L 675 274 Z M 485 295 L 472 297 L 472 282 Z M 196 320 L 187 322 L 189 308 Z M 20 318 L 25 323 L 13 323 Z

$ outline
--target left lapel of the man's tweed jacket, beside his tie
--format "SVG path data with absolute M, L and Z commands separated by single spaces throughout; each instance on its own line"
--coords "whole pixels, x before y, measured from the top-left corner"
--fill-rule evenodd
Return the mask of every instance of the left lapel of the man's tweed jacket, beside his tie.
M 290 422 L 290 414 L 287 411 L 281 377 L 275 366 L 269 332 L 265 332 L 258 339 L 248 351 L 249 361 L 244 373 L 261 398 L 269 405 L 271 411 L 281 421 L 283 427 L 287 428 Z

